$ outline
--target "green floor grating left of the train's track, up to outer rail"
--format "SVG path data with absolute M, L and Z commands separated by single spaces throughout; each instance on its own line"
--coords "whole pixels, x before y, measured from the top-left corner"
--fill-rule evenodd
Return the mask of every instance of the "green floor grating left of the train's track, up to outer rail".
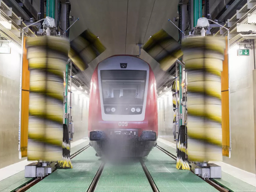
M 101 160 L 89 147 L 71 161 L 73 169 L 57 169 L 27 192 L 86 192 Z

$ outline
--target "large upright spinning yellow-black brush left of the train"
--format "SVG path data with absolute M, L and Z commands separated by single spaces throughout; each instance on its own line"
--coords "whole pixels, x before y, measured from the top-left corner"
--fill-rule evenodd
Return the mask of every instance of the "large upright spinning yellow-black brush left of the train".
M 69 40 L 26 39 L 30 70 L 28 160 L 59 161 L 63 139 L 63 72 Z

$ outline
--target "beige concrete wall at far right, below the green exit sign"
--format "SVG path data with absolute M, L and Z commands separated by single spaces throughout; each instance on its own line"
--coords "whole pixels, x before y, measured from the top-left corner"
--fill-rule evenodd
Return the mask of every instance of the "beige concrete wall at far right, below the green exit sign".
M 240 169 L 255 173 L 254 102 L 252 71 L 254 53 L 237 56 L 237 47 L 229 50 L 231 158 L 223 157 Z

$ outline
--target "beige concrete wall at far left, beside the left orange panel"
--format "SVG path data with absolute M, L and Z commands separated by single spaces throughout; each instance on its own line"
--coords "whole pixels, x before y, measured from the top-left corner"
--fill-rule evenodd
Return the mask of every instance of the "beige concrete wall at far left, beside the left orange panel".
M 0 168 L 16 163 L 20 98 L 21 50 L 11 45 L 11 54 L 0 54 Z M 2 46 L 7 46 L 3 43 Z

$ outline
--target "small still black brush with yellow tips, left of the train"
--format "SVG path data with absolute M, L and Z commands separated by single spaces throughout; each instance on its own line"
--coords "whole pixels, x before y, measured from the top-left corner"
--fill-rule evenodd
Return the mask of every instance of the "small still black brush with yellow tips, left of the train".
M 69 144 L 69 132 L 68 126 L 63 124 L 63 154 L 62 160 L 58 161 L 58 169 L 71 169 L 73 168 L 71 160 L 70 160 L 70 144 Z

